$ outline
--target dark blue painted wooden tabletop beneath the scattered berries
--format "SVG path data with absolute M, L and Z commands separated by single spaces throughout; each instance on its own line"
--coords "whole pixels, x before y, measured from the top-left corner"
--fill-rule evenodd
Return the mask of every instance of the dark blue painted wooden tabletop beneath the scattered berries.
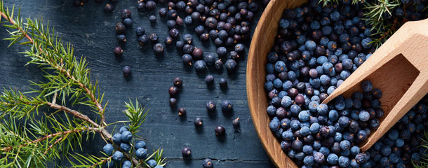
M 123 8 L 131 10 L 134 28 L 143 25 L 147 33 L 158 33 L 162 42 L 167 36 L 166 19 L 160 18 L 157 10 L 138 13 L 135 8 L 136 0 L 119 0 L 111 14 L 103 11 L 105 3 L 95 3 L 93 0 L 81 7 L 73 6 L 71 0 L 5 1 L 5 5 L 9 7 L 13 3 L 21 7 L 22 17 L 44 18 L 46 22 L 49 21 L 63 41 L 72 42 L 76 56 L 83 55 L 88 59 L 92 80 L 99 80 L 100 90 L 105 92 L 105 100 L 109 100 L 106 109 L 107 123 L 126 120 L 122 111 L 123 102 L 128 99 L 138 98 L 150 109 L 138 135 L 144 137 L 149 151 L 163 148 L 168 161 L 167 167 L 201 167 L 204 158 L 215 160 L 215 167 L 274 167 L 260 144 L 248 111 L 246 58 L 239 62 L 239 68 L 234 73 L 209 69 L 207 73 L 212 74 L 216 80 L 215 87 L 209 88 L 203 80 L 206 73 L 196 73 L 193 67 L 183 66 L 182 55 L 175 46 L 167 47 L 163 57 L 155 57 L 152 45 L 141 47 L 138 44 L 134 29 L 128 30 L 123 58 L 114 57 L 112 48 L 117 45 L 114 27 L 116 22 L 121 21 L 120 10 Z M 164 5 L 158 3 L 158 8 L 159 6 Z M 149 23 L 149 14 L 156 14 L 156 24 Z M 260 15 L 261 11 L 256 14 L 253 29 Z M 193 27 L 180 28 L 180 33 L 192 30 Z M 0 38 L 6 36 L 6 29 L 1 27 Z M 201 43 L 196 38 L 194 43 L 205 52 L 215 52 L 215 45 L 211 42 Z M 43 80 L 39 68 L 34 65 L 25 66 L 29 59 L 18 54 L 27 48 L 13 45 L 6 49 L 7 46 L 8 41 L 0 41 L 0 85 L 25 91 L 31 87 L 28 80 Z M 246 46 L 248 51 L 249 41 Z M 124 78 L 121 72 L 126 65 L 133 68 L 131 78 Z M 184 80 L 178 107 L 187 109 L 186 118 L 180 118 L 177 109 L 168 106 L 168 88 L 175 76 Z M 220 90 L 220 77 L 229 80 L 227 90 Z M 223 115 L 220 110 L 220 101 L 224 99 L 229 99 L 234 104 L 234 111 L 230 116 Z M 208 116 L 206 112 L 205 104 L 209 100 L 218 104 L 215 115 Z M 86 114 L 95 117 L 91 112 Z M 201 131 L 196 131 L 194 127 L 193 120 L 196 116 L 203 118 Z M 232 127 L 232 120 L 238 117 L 241 119 L 241 129 L 236 132 Z M 225 126 L 225 139 L 220 140 L 215 136 L 216 125 Z M 84 151 L 100 155 L 98 151 L 104 145 L 101 139 L 95 138 L 87 142 Z M 192 160 L 189 162 L 181 158 L 181 150 L 185 146 L 192 148 Z M 58 164 L 64 163 L 59 161 Z

